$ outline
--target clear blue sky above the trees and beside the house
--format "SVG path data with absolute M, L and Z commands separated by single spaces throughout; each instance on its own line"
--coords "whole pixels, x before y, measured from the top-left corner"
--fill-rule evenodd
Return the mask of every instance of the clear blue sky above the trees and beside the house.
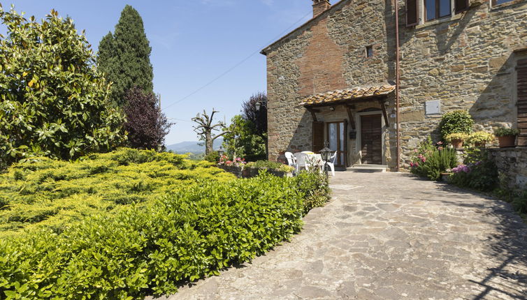
M 252 93 L 266 91 L 266 59 L 258 52 L 312 16 L 311 0 L 0 0 L 4 9 L 13 2 L 17 11 L 38 20 L 52 8 L 73 18 L 95 51 L 122 8 L 136 8 L 152 47 L 154 91 L 161 94 L 166 116 L 177 122 L 166 144 L 197 140 L 190 119 L 203 109 L 215 107 L 218 117 L 229 121 Z

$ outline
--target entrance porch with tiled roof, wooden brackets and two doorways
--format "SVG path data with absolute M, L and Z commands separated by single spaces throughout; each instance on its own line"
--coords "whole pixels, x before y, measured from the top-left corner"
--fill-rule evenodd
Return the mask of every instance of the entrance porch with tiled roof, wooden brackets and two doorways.
M 304 99 L 301 105 L 312 117 L 312 151 L 317 153 L 327 141 L 337 152 L 337 170 L 386 170 L 391 162 L 387 107 L 394 90 L 381 85 Z

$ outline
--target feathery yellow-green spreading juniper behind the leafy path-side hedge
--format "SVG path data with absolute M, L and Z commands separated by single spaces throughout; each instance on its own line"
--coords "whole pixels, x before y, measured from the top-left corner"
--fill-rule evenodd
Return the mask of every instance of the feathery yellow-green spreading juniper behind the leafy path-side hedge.
M 41 227 L 62 232 L 86 216 L 144 206 L 196 181 L 231 179 L 212 163 L 156 151 L 120 149 L 71 163 L 34 158 L 0 174 L 0 237 Z

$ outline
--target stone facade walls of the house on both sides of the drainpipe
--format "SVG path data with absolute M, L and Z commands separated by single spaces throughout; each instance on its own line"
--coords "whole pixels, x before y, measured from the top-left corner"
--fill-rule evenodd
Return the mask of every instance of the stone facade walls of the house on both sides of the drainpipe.
M 514 67 L 522 54 L 513 50 L 527 47 L 527 1 L 496 8 L 483 3 L 447 21 L 410 28 L 403 24 L 404 2 L 399 1 L 403 160 L 436 132 L 440 115 L 425 114 L 428 100 L 441 100 L 442 112 L 469 110 L 476 130 L 516 126 Z M 393 10 L 387 1 L 341 1 L 266 49 L 271 159 L 286 149 L 310 149 L 312 119 L 298 106 L 305 96 L 394 82 Z M 368 45 L 373 45 L 373 58 L 366 58 Z M 394 97 L 388 100 L 390 112 Z M 323 118 L 338 121 L 342 115 L 326 113 Z M 393 167 L 393 126 L 385 128 L 384 138 L 385 160 Z M 355 151 L 350 157 L 358 150 L 353 146 L 349 141 L 348 149 Z

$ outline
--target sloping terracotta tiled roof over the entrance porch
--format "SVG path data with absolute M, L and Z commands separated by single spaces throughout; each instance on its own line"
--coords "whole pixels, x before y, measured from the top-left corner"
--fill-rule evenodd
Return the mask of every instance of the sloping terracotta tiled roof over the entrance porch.
M 356 100 L 363 100 L 364 98 L 388 95 L 389 93 L 395 91 L 395 88 L 396 87 L 394 85 L 384 84 L 370 87 L 357 87 L 354 89 L 328 91 L 326 93 L 317 93 L 317 95 L 305 98 L 302 100 L 300 105 L 318 106 L 325 104 L 337 104 L 339 102 L 353 102 Z

